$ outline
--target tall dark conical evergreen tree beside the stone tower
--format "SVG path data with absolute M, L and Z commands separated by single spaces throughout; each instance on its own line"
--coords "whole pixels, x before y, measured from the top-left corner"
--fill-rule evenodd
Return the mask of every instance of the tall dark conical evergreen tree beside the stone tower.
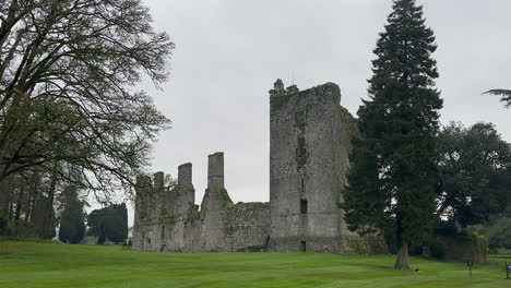
M 369 99 L 345 188 L 352 230 L 395 235 L 395 268 L 409 269 L 408 244 L 432 226 L 438 183 L 437 134 L 443 103 L 435 88 L 437 46 L 415 0 L 394 0 L 373 52 Z

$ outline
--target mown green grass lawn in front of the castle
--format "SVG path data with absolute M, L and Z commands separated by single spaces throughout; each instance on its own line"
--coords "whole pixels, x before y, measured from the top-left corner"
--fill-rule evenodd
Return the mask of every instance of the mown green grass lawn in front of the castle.
M 0 287 L 511 287 L 503 262 L 477 265 L 412 259 L 419 272 L 397 272 L 393 256 L 320 253 L 146 253 L 120 247 L 0 241 Z

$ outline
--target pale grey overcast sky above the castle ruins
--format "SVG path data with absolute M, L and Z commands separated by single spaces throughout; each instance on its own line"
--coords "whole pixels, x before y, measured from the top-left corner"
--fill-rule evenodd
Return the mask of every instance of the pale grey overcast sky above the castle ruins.
M 366 97 L 378 33 L 391 0 L 144 0 L 176 43 L 164 91 L 144 85 L 173 120 L 155 146 L 153 171 L 193 164 L 195 201 L 207 155 L 225 152 L 235 202 L 269 201 L 269 95 L 276 79 L 300 89 L 335 82 L 356 113 Z M 437 36 L 442 123 L 496 124 L 511 141 L 511 110 L 489 88 L 511 88 L 511 1 L 418 0 Z

